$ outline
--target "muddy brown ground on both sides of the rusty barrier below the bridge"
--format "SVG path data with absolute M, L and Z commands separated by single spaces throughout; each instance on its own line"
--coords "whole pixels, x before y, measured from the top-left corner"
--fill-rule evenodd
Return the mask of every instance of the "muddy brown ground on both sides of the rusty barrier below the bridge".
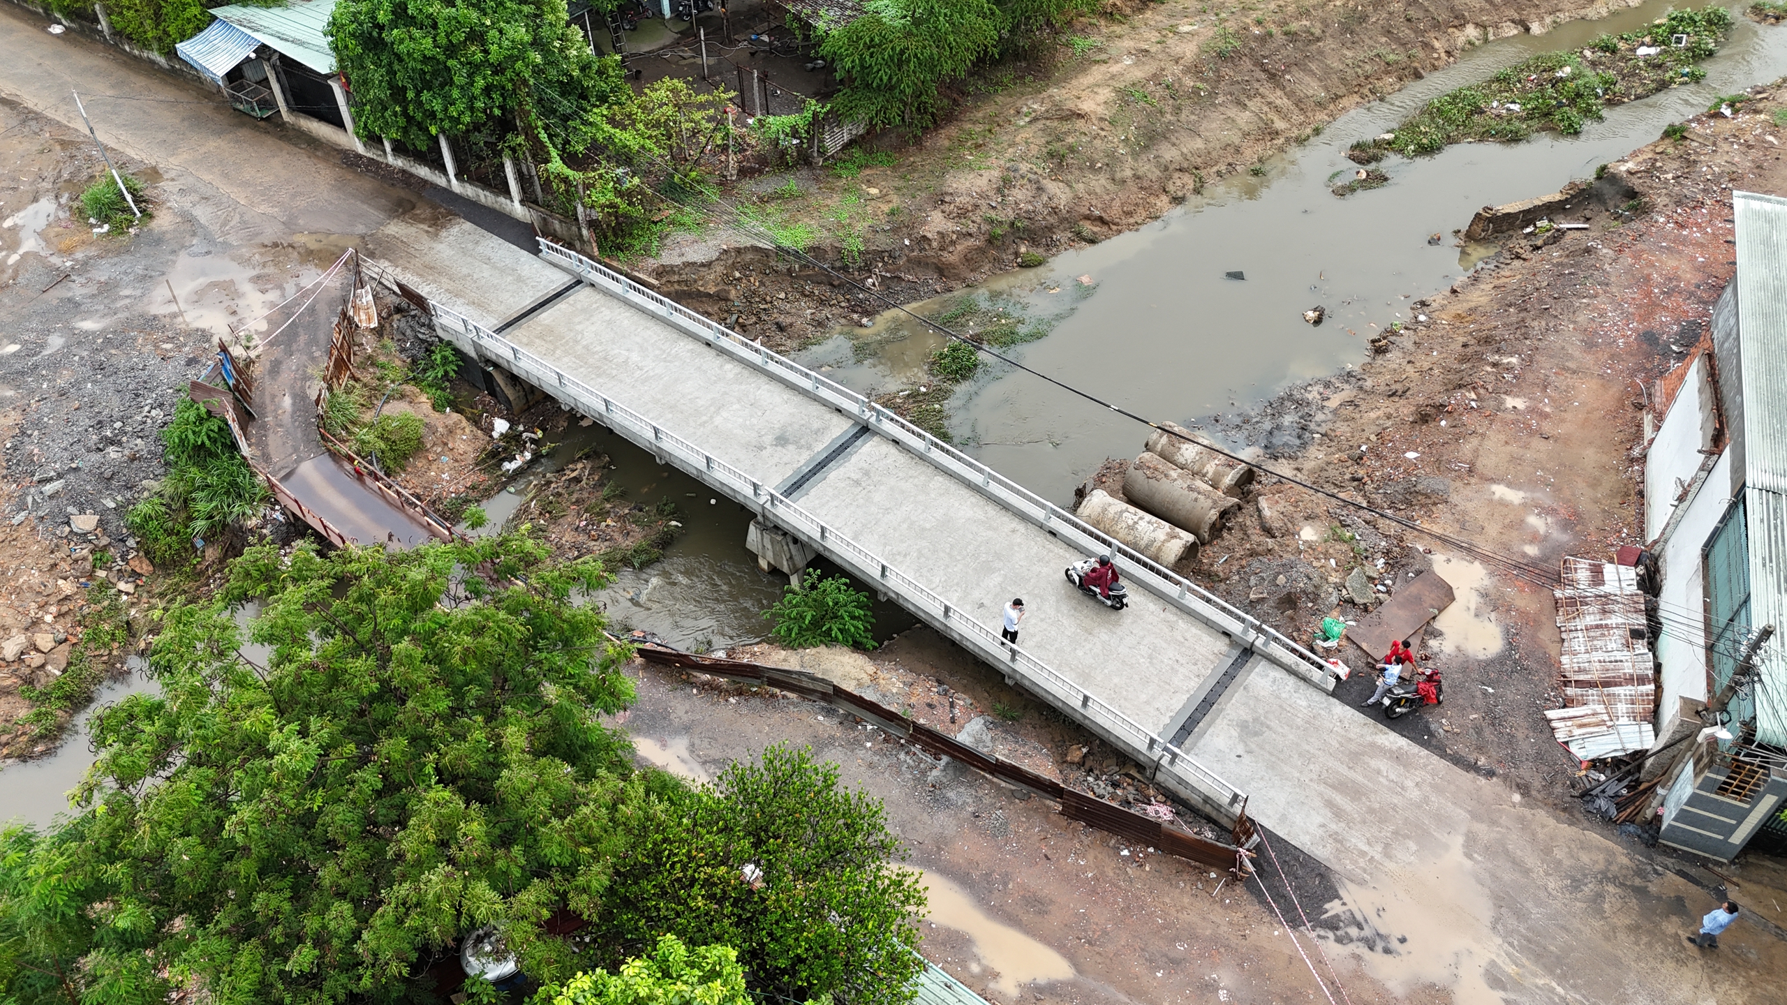
M 910 694 L 917 715 L 931 724 L 977 733 L 977 742 L 1001 756 L 1033 767 L 1047 767 L 1038 758 L 1065 756 L 1085 742 L 1078 726 L 1053 719 L 929 629 L 908 631 L 868 656 L 770 647 L 729 655 L 881 688 L 883 701 Z M 883 799 L 890 830 L 911 851 L 906 866 L 929 878 L 931 910 L 920 925 L 920 950 L 988 1001 L 1279 1003 L 1319 994 L 1260 896 L 1258 880 L 1237 889 L 1226 873 L 1212 874 L 1067 821 L 1045 799 L 888 742 L 826 705 L 643 663 L 627 672 L 640 697 L 622 724 L 642 758 L 659 767 L 709 780 L 733 760 L 788 742 L 811 746 L 838 764 L 847 785 Z M 936 694 L 938 678 L 951 681 L 944 685 L 951 694 Z M 926 708 L 926 690 L 936 708 Z M 952 726 L 944 721 L 951 696 L 958 699 Z M 990 714 L 995 703 L 1019 710 L 1019 719 Z M 1319 871 L 1299 873 L 1288 858 L 1285 869 L 1308 910 L 1333 898 Z M 1263 878 L 1288 910 L 1283 876 L 1265 866 Z M 1328 978 L 1308 941 L 1305 950 Z M 1431 989 L 1392 996 L 1351 957 L 1335 957 L 1335 966 L 1360 1005 L 1447 1000 Z

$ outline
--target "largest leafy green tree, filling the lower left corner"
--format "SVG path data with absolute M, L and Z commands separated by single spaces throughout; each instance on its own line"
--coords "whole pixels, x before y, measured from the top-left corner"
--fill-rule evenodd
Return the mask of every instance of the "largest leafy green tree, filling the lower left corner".
M 540 980 L 583 969 L 543 925 L 602 914 L 642 792 L 599 721 L 625 651 L 572 603 L 604 583 L 518 535 L 248 549 L 164 612 L 159 694 L 95 717 L 84 812 L 0 835 L 0 1001 L 407 1000 L 479 925 Z

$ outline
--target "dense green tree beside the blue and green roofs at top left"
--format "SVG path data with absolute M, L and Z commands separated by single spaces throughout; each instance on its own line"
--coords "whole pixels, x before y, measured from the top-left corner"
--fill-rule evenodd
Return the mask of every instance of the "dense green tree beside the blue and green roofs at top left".
M 341 0 L 329 41 L 361 138 L 416 150 L 491 123 L 527 145 L 541 125 L 563 132 L 631 98 L 620 61 L 590 54 L 565 0 Z

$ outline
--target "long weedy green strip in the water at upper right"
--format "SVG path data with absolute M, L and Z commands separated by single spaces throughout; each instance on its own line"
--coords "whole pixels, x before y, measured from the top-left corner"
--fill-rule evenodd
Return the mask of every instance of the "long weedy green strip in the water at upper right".
M 1603 34 L 1583 50 L 1535 55 L 1481 84 L 1444 93 L 1403 122 L 1390 139 L 1371 145 L 1415 157 L 1467 139 L 1574 136 L 1608 106 L 1701 80 L 1707 72 L 1698 63 L 1717 52 L 1730 27 L 1724 7 L 1671 11 L 1639 30 Z M 1639 55 L 1640 48 L 1646 55 Z

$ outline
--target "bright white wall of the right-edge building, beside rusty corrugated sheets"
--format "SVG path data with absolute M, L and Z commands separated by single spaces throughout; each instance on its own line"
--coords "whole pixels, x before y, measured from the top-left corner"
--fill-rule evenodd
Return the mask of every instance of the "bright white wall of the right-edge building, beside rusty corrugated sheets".
M 1674 410 L 1671 410 L 1673 415 Z M 1658 440 L 1662 440 L 1660 433 Z M 1694 456 L 1699 458 L 1699 454 Z M 1682 502 L 1680 519 L 1669 531 L 1669 538 L 1658 545 L 1662 590 L 1657 603 L 1662 608 L 1667 631 L 1657 638 L 1657 665 L 1662 678 L 1657 706 L 1658 717 L 1665 719 L 1657 724 L 1657 735 L 1669 730 L 1669 721 L 1680 708 L 1678 699 L 1707 701 L 1705 570 L 1699 549 L 1732 504 L 1726 470 L 1730 463 L 1732 452 L 1726 451 L 1699 483 L 1699 488 Z

